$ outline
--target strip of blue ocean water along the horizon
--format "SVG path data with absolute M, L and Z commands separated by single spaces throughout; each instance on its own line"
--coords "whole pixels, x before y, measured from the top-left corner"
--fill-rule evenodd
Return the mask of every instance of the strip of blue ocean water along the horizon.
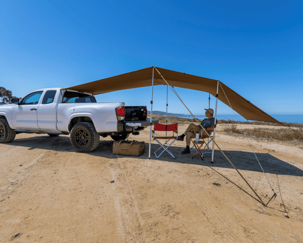
M 178 116 L 176 114 L 176 116 Z M 292 123 L 303 123 L 303 115 L 275 115 L 275 114 L 270 114 L 273 118 L 275 118 L 278 121 L 281 122 L 292 122 Z M 184 116 L 178 116 L 182 118 L 188 118 L 188 119 L 193 119 L 191 115 L 184 115 Z M 195 115 L 197 119 L 204 119 L 206 118 L 205 115 Z M 237 115 L 237 118 L 239 121 L 246 121 L 246 119 L 240 115 Z M 237 121 L 237 118 L 235 115 L 217 115 L 217 120 L 234 120 Z

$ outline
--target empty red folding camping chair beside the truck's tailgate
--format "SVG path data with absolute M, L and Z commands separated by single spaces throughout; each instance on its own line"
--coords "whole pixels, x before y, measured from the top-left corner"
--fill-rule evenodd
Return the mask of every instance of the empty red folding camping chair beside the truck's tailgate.
M 159 137 L 159 136 L 155 136 L 155 131 L 161 131 L 161 132 L 172 132 L 172 136 L 164 136 L 164 137 Z M 176 136 L 175 133 L 177 134 Z M 160 123 L 155 123 L 154 125 L 154 130 L 152 130 L 152 137 L 154 138 L 154 140 L 161 146 L 160 148 L 158 148 L 155 151 L 155 156 L 156 158 L 159 158 L 159 156 L 164 152 L 167 151 L 172 157 L 175 158 L 175 156 L 173 156 L 173 154 L 168 150 L 168 147 L 170 145 L 172 145 L 178 137 L 178 123 L 174 123 L 174 124 L 170 124 L 170 125 L 164 125 L 164 124 L 160 124 Z M 168 139 L 165 143 L 161 143 L 158 139 Z M 174 141 L 172 141 L 168 146 L 166 145 L 168 143 L 168 141 L 170 141 L 171 139 L 174 139 Z M 166 146 L 165 146 L 166 145 Z M 157 155 L 156 152 L 163 148 L 163 151 Z

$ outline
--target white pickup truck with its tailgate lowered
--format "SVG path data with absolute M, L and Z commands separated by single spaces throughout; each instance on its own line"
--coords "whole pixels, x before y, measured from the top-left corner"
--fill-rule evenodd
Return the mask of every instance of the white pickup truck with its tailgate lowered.
M 18 133 L 70 134 L 79 152 L 97 148 L 100 136 L 126 139 L 150 125 L 146 106 L 125 107 L 123 102 L 97 103 L 93 94 L 61 88 L 32 91 L 20 101 L 0 106 L 0 143 Z M 154 124 L 157 121 L 152 121 Z

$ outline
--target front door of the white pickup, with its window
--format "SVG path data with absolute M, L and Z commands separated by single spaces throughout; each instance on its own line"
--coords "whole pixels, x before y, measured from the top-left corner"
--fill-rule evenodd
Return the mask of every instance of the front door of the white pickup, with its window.
M 12 112 L 12 124 L 15 128 L 39 129 L 37 109 L 43 91 L 33 92 L 25 96 L 20 105 Z

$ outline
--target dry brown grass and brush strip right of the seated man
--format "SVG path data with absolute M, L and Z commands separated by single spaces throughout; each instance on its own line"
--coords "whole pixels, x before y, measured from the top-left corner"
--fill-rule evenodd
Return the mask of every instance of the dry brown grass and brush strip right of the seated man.
M 303 128 L 253 128 L 248 129 L 238 129 L 236 124 L 223 125 L 223 131 L 228 133 L 235 133 L 243 135 L 245 132 L 246 136 L 265 138 L 265 139 L 274 139 L 278 141 L 303 141 Z

